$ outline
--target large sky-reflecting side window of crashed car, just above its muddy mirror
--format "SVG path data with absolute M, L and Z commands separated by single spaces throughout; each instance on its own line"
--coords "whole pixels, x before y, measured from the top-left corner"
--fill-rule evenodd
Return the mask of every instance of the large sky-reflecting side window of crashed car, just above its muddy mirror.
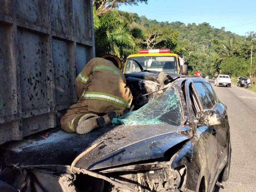
M 196 91 L 200 97 L 203 109 L 211 109 L 215 105 L 212 101 L 214 100 L 212 94 L 208 91 L 208 89 L 203 85 L 202 82 L 194 83 Z

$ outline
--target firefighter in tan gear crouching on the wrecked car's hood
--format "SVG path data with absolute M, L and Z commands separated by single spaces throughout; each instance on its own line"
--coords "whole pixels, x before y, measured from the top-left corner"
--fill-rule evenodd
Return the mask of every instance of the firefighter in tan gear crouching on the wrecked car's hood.
M 119 68 L 121 62 L 115 56 L 93 58 L 85 65 L 75 82 L 79 100 L 62 116 L 62 129 L 85 134 L 130 108 L 132 95 Z

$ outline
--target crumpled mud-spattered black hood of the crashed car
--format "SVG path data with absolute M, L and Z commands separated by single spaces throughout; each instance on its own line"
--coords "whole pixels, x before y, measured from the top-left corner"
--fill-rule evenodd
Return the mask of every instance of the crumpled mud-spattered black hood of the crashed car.
M 42 134 L 5 145 L 4 162 L 15 167 L 71 165 L 79 154 L 103 141 L 76 167 L 106 168 L 162 158 L 168 149 L 190 137 L 189 127 L 160 124 L 108 126 L 84 135 L 59 130 L 48 138 Z

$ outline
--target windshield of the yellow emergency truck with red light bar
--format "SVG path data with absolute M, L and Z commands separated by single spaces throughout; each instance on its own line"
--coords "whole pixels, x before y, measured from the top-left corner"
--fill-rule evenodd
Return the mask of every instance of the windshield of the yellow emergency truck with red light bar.
M 135 62 L 136 61 L 136 62 Z M 177 62 L 174 56 L 145 56 L 128 58 L 125 73 L 140 72 L 139 63 L 143 70 L 177 73 Z

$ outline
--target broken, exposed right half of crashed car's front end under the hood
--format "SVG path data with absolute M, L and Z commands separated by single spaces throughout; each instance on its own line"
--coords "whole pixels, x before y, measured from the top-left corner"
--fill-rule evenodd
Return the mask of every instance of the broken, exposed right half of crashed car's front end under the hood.
M 170 164 L 130 165 L 100 171 L 107 177 L 128 186 L 130 191 L 177 191 L 181 181 L 178 170 Z M 124 191 L 112 185 L 108 191 Z

